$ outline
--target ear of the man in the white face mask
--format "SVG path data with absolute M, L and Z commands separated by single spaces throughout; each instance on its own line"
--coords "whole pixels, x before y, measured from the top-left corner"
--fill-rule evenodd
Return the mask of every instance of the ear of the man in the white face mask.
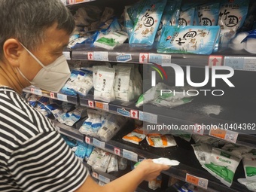
M 15 38 L 9 38 L 5 41 L 3 46 L 3 52 L 5 59 L 15 67 L 20 66 L 20 56 L 23 53 L 24 48 L 19 41 Z

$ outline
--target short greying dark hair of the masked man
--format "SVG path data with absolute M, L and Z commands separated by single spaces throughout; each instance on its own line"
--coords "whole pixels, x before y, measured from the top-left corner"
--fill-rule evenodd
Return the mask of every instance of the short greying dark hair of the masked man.
M 35 50 L 44 42 L 45 29 L 54 23 L 69 35 L 75 28 L 72 14 L 60 0 L 0 0 L 0 59 L 8 38 Z

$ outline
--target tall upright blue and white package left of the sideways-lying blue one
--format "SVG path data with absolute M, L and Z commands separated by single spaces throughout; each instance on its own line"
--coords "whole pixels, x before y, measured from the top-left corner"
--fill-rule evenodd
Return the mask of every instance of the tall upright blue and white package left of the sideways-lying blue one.
M 129 39 L 130 47 L 151 47 L 160 25 L 166 0 L 142 0 Z

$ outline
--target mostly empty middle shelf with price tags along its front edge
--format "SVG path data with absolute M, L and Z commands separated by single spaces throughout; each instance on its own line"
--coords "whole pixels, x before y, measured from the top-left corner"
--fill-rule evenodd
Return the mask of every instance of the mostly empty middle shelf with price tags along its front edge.
M 254 142 L 256 140 L 256 122 L 254 120 L 254 117 L 256 117 L 256 111 L 254 110 L 256 102 L 251 102 L 254 96 L 251 96 L 251 99 L 239 98 L 238 101 L 230 95 L 233 93 L 227 93 L 227 96 L 223 96 L 222 99 L 215 96 L 197 96 L 192 102 L 175 108 L 158 108 L 154 105 L 143 105 L 136 108 L 135 102 L 120 100 L 109 103 L 101 102 L 94 100 L 91 95 L 87 97 L 66 96 L 62 93 L 50 93 L 35 87 L 26 88 L 24 91 L 143 120 L 146 122 L 146 129 L 150 124 L 174 125 L 172 130 L 180 130 L 181 126 L 197 124 L 198 126 L 184 131 L 192 134 L 214 136 L 238 145 L 256 147 Z M 221 110 L 219 114 L 206 114 L 205 108 L 207 106 L 220 107 Z M 202 129 L 202 126 L 205 128 Z M 214 129 L 222 126 L 224 129 L 218 130 L 217 134 L 211 126 Z M 172 133 L 172 130 L 161 130 L 160 133 Z

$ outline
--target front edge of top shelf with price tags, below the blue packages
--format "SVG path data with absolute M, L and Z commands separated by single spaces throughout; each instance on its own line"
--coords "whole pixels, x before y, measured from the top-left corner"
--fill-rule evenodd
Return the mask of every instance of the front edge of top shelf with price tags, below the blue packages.
M 256 71 L 256 56 L 242 50 L 222 50 L 211 55 L 157 53 L 155 48 L 149 50 L 120 44 L 114 50 L 93 47 L 89 44 L 78 44 L 72 50 L 74 60 L 96 60 L 108 62 L 175 63 L 179 66 L 230 66 L 236 70 Z

